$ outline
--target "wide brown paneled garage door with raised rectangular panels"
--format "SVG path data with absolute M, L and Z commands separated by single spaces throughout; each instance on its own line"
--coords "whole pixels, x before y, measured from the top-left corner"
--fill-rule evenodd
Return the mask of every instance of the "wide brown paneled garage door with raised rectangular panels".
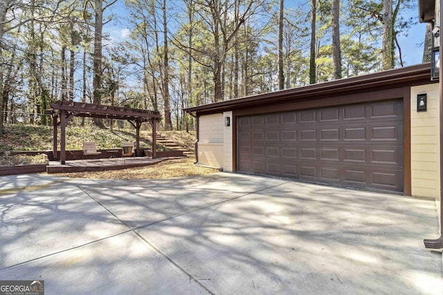
M 401 100 L 237 118 L 241 172 L 403 191 Z

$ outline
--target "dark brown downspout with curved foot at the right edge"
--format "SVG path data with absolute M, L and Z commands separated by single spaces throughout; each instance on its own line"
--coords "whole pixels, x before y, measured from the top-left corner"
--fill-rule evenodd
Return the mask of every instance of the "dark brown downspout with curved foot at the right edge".
M 442 14 L 442 4 L 443 0 L 440 1 L 440 6 L 438 8 L 439 11 L 439 26 L 440 26 L 440 48 L 439 55 L 443 53 L 443 36 L 442 36 L 442 24 L 443 24 L 443 14 Z M 439 91 L 440 91 L 440 238 L 435 240 L 424 239 L 424 247 L 429 249 L 442 249 L 443 248 L 443 61 L 440 58 L 440 68 L 438 71 L 438 83 L 439 83 Z

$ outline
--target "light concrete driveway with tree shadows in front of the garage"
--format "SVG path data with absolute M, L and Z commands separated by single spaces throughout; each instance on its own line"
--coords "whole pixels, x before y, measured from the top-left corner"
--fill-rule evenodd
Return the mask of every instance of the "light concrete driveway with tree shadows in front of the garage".
M 442 294 L 435 202 L 216 173 L 0 177 L 0 280 L 45 294 Z

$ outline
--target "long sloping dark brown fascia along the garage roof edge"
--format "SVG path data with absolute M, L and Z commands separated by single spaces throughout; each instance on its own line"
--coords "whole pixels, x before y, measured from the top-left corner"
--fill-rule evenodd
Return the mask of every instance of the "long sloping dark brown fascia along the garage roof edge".
M 283 104 L 294 100 L 310 100 L 327 96 L 348 95 L 359 92 L 379 91 L 401 86 L 415 86 L 431 82 L 431 63 L 407 66 L 379 73 L 361 75 L 331 82 L 323 82 L 307 86 L 300 86 L 272 93 L 251 95 L 247 97 L 215 102 L 184 108 L 187 113 L 210 114 L 233 111 L 234 109 L 263 106 L 266 104 Z

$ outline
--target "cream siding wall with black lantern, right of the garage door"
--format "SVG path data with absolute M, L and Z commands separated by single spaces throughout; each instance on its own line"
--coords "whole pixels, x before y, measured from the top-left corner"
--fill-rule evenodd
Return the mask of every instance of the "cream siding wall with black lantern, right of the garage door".
M 417 94 L 426 93 L 426 112 L 417 112 Z M 438 84 L 411 87 L 410 160 L 413 196 L 440 198 L 440 129 Z

